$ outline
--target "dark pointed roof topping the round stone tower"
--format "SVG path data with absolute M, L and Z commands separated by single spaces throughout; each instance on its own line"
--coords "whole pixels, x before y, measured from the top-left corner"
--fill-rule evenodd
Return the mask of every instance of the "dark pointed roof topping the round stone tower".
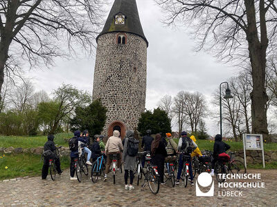
M 114 17 L 116 16 L 116 14 L 120 13 L 125 15 L 126 21 L 124 25 L 117 25 L 114 23 Z M 148 45 L 148 41 L 143 33 L 143 28 L 141 27 L 141 21 L 139 19 L 139 12 L 136 6 L 136 0 L 114 1 L 114 6 L 112 6 L 105 26 L 98 37 L 109 32 L 129 32 L 133 34 L 138 34 L 146 41 Z M 96 41 L 98 40 L 98 37 L 96 38 Z

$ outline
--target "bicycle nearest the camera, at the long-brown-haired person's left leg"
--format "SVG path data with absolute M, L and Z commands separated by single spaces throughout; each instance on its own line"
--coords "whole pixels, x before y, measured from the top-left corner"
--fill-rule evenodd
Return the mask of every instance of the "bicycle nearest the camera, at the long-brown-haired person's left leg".
M 146 183 L 148 183 L 148 186 L 153 194 L 159 193 L 160 188 L 160 181 L 159 181 L 159 174 L 157 170 L 157 166 L 152 166 L 150 164 L 151 157 L 150 154 L 146 154 L 145 161 L 147 163 L 146 166 L 146 172 L 144 173 L 144 184 L 142 184 L 141 189 L 143 189 L 146 186 Z

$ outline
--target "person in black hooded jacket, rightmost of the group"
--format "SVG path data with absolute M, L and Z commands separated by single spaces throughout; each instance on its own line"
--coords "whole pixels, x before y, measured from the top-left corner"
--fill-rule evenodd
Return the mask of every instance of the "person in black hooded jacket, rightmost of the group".
M 215 175 L 215 162 L 218 160 L 218 155 L 226 150 L 229 150 L 231 147 L 222 141 L 221 135 L 215 135 L 215 144 L 213 144 L 213 161 L 212 161 L 212 172 L 211 176 Z

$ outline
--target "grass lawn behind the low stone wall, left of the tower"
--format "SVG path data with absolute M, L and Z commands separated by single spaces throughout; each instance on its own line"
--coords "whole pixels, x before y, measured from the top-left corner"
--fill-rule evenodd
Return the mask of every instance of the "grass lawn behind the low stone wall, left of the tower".
M 73 137 L 73 133 L 60 133 L 55 135 L 54 142 L 58 146 L 68 147 L 69 144 L 64 139 Z M 0 146 L 8 148 L 35 148 L 44 146 L 47 136 L 19 137 L 19 136 L 0 136 Z

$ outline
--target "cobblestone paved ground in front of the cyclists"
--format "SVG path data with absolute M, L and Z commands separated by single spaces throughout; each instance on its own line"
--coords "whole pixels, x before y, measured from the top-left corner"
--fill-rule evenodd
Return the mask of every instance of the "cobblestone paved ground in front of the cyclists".
M 123 175 L 117 174 L 116 185 L 111 177 L 107 182 L 93 184 L 90 179 L 82 183 L 69 180 L 69 170 L 56 181 L 42 181 L 40 177 L 0 183 L 0 206 L 277 206 L 277 170 L 249 170 L 260 172 L 265 188 L 227 188 L 242 191 L 242 197 L 219 197 L 215 181 L 214 197 L 196 197 L 195 186 L 172 188 L 161 186 L 158 195 L 148 187 L 125 190 Z M 245 180 L 244 180 L 245 181 Z M 230 182 L 230 181 L 228 181 Z

